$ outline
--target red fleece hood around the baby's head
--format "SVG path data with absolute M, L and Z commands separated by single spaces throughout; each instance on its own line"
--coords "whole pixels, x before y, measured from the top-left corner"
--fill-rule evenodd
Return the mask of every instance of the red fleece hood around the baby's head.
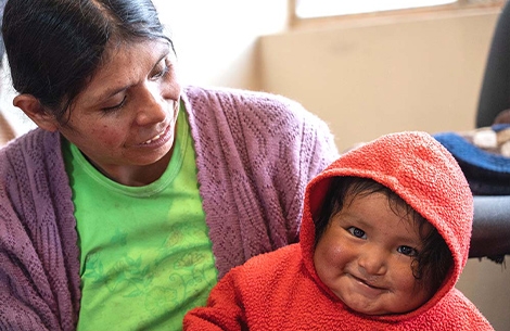
M 407 319 L 432 307 L 454 289 L 468 260 L 473 199 L 458 163 L 429 133 L 398 132 L 348 151 L 308 183 L 299 244 L 306 268 L 331 295 L 334 294 L 320 281 L 314 267 L 314 216 L 321 207 L 331 178 L 341 176 L 371 178 L 396 192 L 437 229 L 454 257 L 452 268 L 428 303 L 411 313 L 377 318 Z

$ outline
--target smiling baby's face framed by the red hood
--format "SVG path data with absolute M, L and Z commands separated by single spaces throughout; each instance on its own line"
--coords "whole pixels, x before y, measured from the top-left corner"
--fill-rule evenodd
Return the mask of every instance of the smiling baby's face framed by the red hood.
M 349 308 L 401 314 L 432 296 L 430 287 L 412 275 L 411 263 L 421 249 L 410 215 L 396 215 L 383 193 L 357 195 L 330 219 L 314 264 L 322 282 Z

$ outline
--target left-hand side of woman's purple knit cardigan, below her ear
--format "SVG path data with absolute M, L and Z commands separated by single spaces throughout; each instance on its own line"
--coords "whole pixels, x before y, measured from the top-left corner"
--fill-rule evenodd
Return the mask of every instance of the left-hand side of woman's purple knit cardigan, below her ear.
M 59 142 L 37 129 L 0 151 L 0 330 L 76 328 L 79 254 Z

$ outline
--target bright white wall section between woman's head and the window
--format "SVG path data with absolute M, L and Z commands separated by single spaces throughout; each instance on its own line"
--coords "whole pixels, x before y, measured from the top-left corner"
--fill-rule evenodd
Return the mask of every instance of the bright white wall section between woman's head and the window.
M 286 27 L 286 0 L 155 0 L 184 82 L 259 89 L 257 38 Z

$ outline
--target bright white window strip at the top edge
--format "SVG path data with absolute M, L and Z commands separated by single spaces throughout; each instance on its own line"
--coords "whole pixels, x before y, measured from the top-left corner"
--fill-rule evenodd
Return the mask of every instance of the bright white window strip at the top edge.
M 336 16 L 454 3 L 457 0 L 297 0 L 301 18 Z

